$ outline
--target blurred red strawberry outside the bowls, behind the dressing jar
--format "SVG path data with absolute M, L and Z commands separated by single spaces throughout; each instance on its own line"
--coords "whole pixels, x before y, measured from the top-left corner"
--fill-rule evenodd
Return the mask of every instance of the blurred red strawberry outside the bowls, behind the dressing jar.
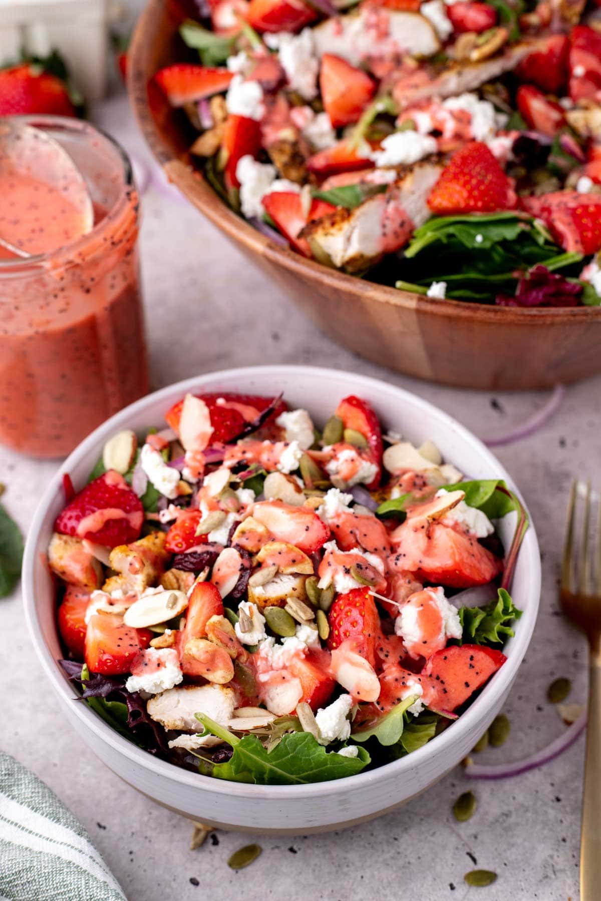
M 0 115 L 75 115 L 64 81 L 29 63 L 0 70 Z

